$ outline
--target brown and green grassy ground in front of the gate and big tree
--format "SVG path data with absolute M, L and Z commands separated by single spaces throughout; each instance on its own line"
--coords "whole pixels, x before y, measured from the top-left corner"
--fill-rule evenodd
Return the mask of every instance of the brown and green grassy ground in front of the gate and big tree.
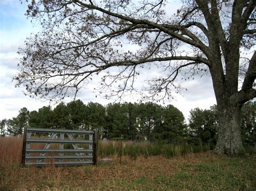
M 22 138 L 0 138 L 0 190 L 256 190 L 256 155 L 211 151 L 165 157 L 116 154 L 98 166 L 21 167 Z

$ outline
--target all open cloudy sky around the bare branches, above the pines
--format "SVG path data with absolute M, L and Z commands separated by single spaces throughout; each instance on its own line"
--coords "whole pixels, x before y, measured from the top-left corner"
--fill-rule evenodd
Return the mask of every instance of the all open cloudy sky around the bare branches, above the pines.
M 16 117 L 18 111 L 23 107 L 32 111 L 38 110 L 44 105 L 51 104 L 52 108 L 56 106 L 49 101 L 25 96 L 23 94 L 24 88 L 15 88 L 15 84 L 12 82 L 12 78 L 17 73 L 17 63 L 19 62 L 18 48 L 24 46 L 26 37 L 40 30 L 40 26 L 32 24 L 24 15 L 26 6 L 18 0 L 0 0 L 0 120 Z M 84 104 L 97 102 L 106 105 L 114 101 L 105 100 L 104 94 L 96 97 L 93 93 L 95 86 L 97 86 L 96 83 L 89 84 L 80 92 L 77 99 L 82 100 Z M 208 109 L 216 103 L 210 76 L 197 77 L 193 81 L 184 82 L 182 86 L 187 90 L 181 91 L 181 94 L 177 94 L 172 101 L 165 102 L 164 105 L 174 105 L 183 112 L 186 119 L 190 115 L 191 109 L 197 107 Z M 125 97 L 124 100 L 136 102 L 129 96 Z M 69 101 L 66 100 L 66 102 Z

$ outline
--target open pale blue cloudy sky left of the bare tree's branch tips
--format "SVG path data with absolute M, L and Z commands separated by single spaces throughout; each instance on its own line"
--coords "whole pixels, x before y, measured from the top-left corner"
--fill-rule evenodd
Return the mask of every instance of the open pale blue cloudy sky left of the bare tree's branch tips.
M 24 15 L 26 6 L 18 0 L 0 0 L 0 120 L 17 116 L 23 107 L 34 110 L 46 104 L 25 97 L 22 89 L 12 83 L 17 72 L 18 48 L 31 32 L 38 31 Z

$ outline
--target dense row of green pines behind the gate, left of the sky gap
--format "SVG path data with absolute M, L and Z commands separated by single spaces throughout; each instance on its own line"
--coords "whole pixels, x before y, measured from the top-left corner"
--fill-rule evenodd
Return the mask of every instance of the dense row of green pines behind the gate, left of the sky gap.
M 24 117 L 25 116 L 25 117 Z M 4 126 L 6 120 L 2 120 Z M 8 133 L 22 135 L 25 125 L 32 128 L 76 129 L 97 131 L 100 138 L 125 140 L 149 140 L 159 143 L 178 143 L 186 136 L 186 125 L 181 111 L 167 105 L 147 103 L 102 104 L 72 101 L 59 103 L 54 109 L 39 108 L 7 120 Z

